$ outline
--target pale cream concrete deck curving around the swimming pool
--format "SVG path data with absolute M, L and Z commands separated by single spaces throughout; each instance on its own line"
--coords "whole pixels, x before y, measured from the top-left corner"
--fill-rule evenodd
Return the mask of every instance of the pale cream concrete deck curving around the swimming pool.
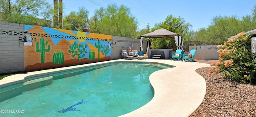
M 149 77 L 150 83 L 154 88 L 154 97 L 152 100 L 139 109 L 122 115 L 122 117 L 188 117 L 204 100 L 206 82 L 201 75 L 196 73 L 195 70 L 200 67 L 210 67 L 210 65 L 198 62 L 171 61 L 170 59 L 117 59 L 70 67 L 33 71 L 5 77 L 0 80 L 0 87 L 19 82 L 24 80 L 25 77 L 31 75 L 42 75 L 54 71 L 97 65 L 100 63 L 110 63 L 113 61 L 154 62 L 175 66 L 173 68 L 162 69 L 152 73 Z

